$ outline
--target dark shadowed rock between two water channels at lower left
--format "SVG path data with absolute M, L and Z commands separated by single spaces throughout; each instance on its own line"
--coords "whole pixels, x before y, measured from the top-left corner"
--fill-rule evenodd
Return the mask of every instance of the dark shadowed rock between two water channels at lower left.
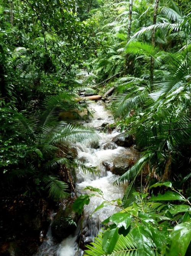
M 77 223 L 79 216 L 73 211 L 72 205 L 73 202 L 68 201 L 65 205 L 60 206 L 52 222 L 52 235 L 59 242 L 71 235 L 76 229 L 74 223 Z

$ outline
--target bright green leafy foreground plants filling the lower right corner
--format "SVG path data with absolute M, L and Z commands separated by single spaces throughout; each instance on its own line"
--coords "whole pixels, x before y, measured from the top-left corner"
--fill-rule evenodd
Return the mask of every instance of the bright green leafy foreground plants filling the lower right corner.
M 103 201 L 95 211 L 110 203 L 119 212 L 103 221 L 105 229 L 91 246 L 87 246 L 85 255 L 188 256 L 191 252 L 191 203 L 172 187 L 171 182 L 155 183 L 150 189 L 156 187 L 165 189 L 165 193 L 148 197 L 148 193 L 141 194 L 131 189 L 127 200 Z M 74 203 L 74 210 L 78 212 L 82 205 L 89 203 L 90 197 L 103 198 L 101 190 L 85 189 L 96 194 L 78 197 Z M 131 202 L 129 197 L 133 197 Z M 183 204 L 176 204 L 177 201 Z

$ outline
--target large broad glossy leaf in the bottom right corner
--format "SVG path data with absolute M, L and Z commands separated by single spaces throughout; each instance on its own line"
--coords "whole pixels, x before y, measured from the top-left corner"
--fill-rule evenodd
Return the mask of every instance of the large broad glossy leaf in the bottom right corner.
M 184 256 L 191 242 L 191 221 L 176 225 L 170 239 L 172 242 L 166 256 Z

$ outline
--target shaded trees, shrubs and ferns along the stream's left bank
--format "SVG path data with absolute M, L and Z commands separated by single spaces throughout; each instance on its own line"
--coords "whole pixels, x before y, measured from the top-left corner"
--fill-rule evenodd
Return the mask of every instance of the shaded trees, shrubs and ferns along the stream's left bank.
M 21 187 L 21 193 L 37 196 L 47 191 L 53 200 L 62 200 L 70 193 L 62 168 L 70 172 L 78 166 L 67 156 L 68 147 L 98 138 L 67 119 L 68 114 L 81 118 L 84 110 L 86 118 L 91 115 L 78 91 L 95 92 L 83 83 L 82 63 L 92 54 L 87 42 L 96 42 L 89 36 L 91 21 L 77 16 L 81 4 L 0 1 L 2 190 Z

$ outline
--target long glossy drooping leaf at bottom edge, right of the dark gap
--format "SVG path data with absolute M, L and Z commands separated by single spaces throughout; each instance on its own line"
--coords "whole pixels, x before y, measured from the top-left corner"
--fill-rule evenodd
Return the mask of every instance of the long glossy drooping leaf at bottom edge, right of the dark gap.
M 136 243 L 139 256 L 155 255 L 151 249 L 153 247 L 152 239 L 149 236 L 149 234 L 146 232 L 145 227 L 137 226 L 133 228 L 132 235 L 134 238 L 134 242 Z

